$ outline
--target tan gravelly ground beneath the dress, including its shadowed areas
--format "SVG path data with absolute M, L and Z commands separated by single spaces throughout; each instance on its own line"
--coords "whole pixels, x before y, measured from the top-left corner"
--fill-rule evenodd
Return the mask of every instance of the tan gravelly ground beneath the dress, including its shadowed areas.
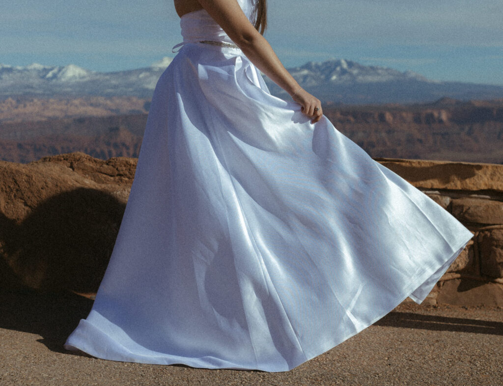
M 0 293 L 1 385 L 501 385 L 503 309 L 403 303 L 339 346 L 281 373 L 113 362 L 62 348 L 92 301 Z

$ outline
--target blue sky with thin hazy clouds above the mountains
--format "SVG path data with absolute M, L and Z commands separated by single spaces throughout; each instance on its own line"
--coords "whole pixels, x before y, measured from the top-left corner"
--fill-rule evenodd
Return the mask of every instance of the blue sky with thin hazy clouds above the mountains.
M 503 0 L 268 0 L 286 67 L 338 58 L 503 85 Z M 172 0 L 0 0 L 0 63 L 147 67 L 181 41 Z

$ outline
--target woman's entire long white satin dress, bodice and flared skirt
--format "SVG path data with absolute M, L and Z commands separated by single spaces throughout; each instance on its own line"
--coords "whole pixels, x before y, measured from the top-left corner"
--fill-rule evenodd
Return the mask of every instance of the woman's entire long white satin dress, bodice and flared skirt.
M 198 43 L 231 43 L 206 11 L 181 26 L 110 264 L 65 347 L 285 371 L 423 301 L 472 234 L 325 117 L 272 96 L 239 49 Z

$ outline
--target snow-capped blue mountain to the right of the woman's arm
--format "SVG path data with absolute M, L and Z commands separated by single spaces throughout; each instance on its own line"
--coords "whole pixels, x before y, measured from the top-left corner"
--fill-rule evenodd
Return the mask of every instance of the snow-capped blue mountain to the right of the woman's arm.
M 423 103 L 444 97 L 457 100 L 503 98 L 503 86 L 428 79 L 412 71 L 364 66 L 333 59 L 308 62 L 288 71 L 299 84 L 324 102 L 344 104 Z M 271 81 L 273 94 L 287 98 L 287 93 Z

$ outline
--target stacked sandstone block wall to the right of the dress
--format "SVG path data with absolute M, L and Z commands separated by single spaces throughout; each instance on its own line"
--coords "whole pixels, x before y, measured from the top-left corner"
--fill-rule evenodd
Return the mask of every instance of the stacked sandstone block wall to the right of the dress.
M 503 306 L 503 165 L 379 159 L 472 233 L 426 303 Z

